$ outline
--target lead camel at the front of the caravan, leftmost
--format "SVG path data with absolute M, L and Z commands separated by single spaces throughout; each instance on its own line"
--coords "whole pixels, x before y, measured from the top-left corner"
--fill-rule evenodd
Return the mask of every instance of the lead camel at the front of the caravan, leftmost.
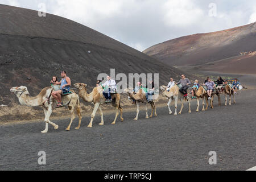
M 44 121 L 46 122 L 46 129 L 41 131 L 41 133 L 48 132 L 48 123 L 50 123 L 55 130 L 59 128 L 58 125 L 49 121 L 49 117 L 52 114 L 52 110 L 57 105 L 57 101 L 53 100 L 53 97 L 51 96 L 52 90 L 53 90 L 52 87 L 48 86 L 46 88 L 43 88 L 41 92 L 38 94 L 38 96 L 31 97 L 26 86 L 13 87 L 10 89 L 12 93 L 16 94 L 21 105 L 29 106 L 29 107 L 43 106 L 44 115 L 45 115 Z M 68 96 L 63 96 L 62 101 L 63 101 L 63 105 L 67 105 L 68 109 L 71 111 L 71 122 L 69 123 L 66 130 L 67 131 L 70 130 L 73 119 L 75 119 L 75 111 L 77 111 L 77 115 L 79 116 L 79 126 L 76 127 L 76 130 L 80 129 L 82 115 L 81 115 L 79 96 L 77 96 L 77 94 L 73 92 Z

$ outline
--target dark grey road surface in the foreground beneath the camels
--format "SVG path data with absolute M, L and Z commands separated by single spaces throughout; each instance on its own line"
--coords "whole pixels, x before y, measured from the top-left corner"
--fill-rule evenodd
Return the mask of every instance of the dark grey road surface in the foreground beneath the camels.
M 137 122 L 127 112 L 116 125 L 113 114 L 105 115 L 104 126 L 97 116 L 91 129 L 84 117 L 78 131 L 78 119 L 71 131 L 64 130 L 68 120 L 54 121 L 59 130 L 49 127 L 47 134 L 40 133 L 44 122 L 0 126 L 0 170 L 246 170 L 256 166 L 255 96 L 246 90 L 236 105 L 199 113 L 195 102 L 191 114 L 187 105 L 176 116 L 167 107 L 150 119 L 141 111 Z M 39 151 L 46 152 L 46 165 L 38 164 Z M 210 151 L 216 165 L 208 163 Z

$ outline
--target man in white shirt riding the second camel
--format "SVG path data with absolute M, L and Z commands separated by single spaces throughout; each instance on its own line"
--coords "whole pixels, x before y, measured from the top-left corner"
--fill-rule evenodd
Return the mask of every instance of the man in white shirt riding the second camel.
M 104 93 L 103 95 L 106 98 L 106 102 L 112 102 L 112 97 L 110 93 L 115 93 L 117 90 L 117 83 L 111 79 L 110 76 L 107 76 L 107 81 L 102 85 L 104 86 Z

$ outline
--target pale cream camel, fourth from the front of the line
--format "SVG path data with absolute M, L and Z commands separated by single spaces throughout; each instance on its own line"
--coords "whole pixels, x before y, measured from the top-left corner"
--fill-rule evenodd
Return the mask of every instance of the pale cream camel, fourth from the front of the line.
M 163 96 L 167 97 L 169 99 L 168 101 L 168 109 L 169 109 L 169 114 L 172 114 L 172 111 L 170 109 L 170 104 L 172 102 L 172 100 L 175 100 L 175 113 L 174 115 L 177 115 L 177 101 L 180 100 L 181 101 L 181 109 L 179 111 L 179 114 L 181 114 L 181 111 L 183 110 L 184 107 L 184 101 L 188 102 L 188 113 L 191 113 L 191 107 L 190 107 L 190 101 L 189 101 L 189 95 L 187 97 L 184 97 L 184 94 L 179 92 L 179 86 L 175 85 L 172 86 L 172 88 L 169 90 L 169 92 L 167 91 L 167 86 L 160 86 L 160 90 L 162 90 L 163 92 Z

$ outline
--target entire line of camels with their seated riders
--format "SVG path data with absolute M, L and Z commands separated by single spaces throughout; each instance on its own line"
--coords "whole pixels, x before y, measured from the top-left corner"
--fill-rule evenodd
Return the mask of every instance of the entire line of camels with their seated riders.
M 122 114 L 123 108 L 121 106 L 121 95 L 117 93 L 117 84 L 110 76 L 106 77 L 105 83 L 101 80 L 97 80 L 96 86 L 93 88 L 91 93 L 87 92 L 87 85 L 84 83 L 76 83 L 73 86 L 78 90 L 78 94 L 75 90 L 71 89 L 71 79 L 67 77 L 65 71 L 61 72 L 61 81 L 57 81 L 57 77 L 52 77 L 51 86 L 43 88 L 38 96 L 31 97 L 26 86 L 13 87 L 10 92 L 14 93 L 18 97 L 19 103 L 24 106 L 36 107 L 42 106 L 44 110 L 44 121 L 46 122 L 46 128 L 42 133 L 48 132 L 48 125 L 52 125 L 55 130 L 59 128 L 58 125 L 51 122 L 49 118 L 51 117 L 52 111 L 55 108 L 67 106 L 71 121 L 67 127 L 67 131 L 71 129 L 73 119 L 76 115 L 79 118 L 79 125 L 75 128 L 76 130 L 81 127 L 81 106 L 80 98 L 85 102 L 90 102 L 94 104 L 94 109 L 91 114 L 91 119 L 88 127 L 93 126 L 93 119 L 96 115 L 97 110 L 100 110 L 101 122 L 99 125 L 104 125 L 104 115 L 102 112 L 102 105 L 108 105 L 115 108 L 115 117 L 112 122 L 115 125 L 119 112 L 120 119 L 123 121 Z M 225 96 L 225 106 L 227 105 L 227 96 L 229 96 L 229 105 L 231 105 L 231 97 L 233 96 L 233 102 L 236 103 L 234 95 L 237 94 L 237 90 L 241 89 L 241 84 L 236 79 L 233 84 L 224 81 L 221 77 L 218 78 L 216 82 L 213 82 L 209 77 L 205 80 L 204 84 L 199 84 L 196 80 L 191 87 L 191 81 L 185 77 L 181 76 L 179 82 L 175 82 L 173 78 L 170 78 L 170 82 L 167 86 L 160 86 L 159 89 L 162 91 L 164 98 L 168 100 L 167 106 L 169 114 L 172 114 L 170 109 L 170 104 L 175 101 L 175 113 L 177 115 L 177 104 L 178 101 L 181 102 L 181 109 L 178 114 L 181 114 L 184 103 L 188 102 L 188 113 L 191 113 L 191 100 L 197 100 L 196 112 L 199 112 L 200 99 L 202 99 L 203 111 L 208 109 L 208 103 L 210 101 L 210 106 L 213 109 L 213 98 L 218 97 L 218 105 L 221 105 L 221 94 Z M 189 90 L 191 88 L 191 90 Z M 146 110 L 146 119 L 157 117 L 155 102 L 159 96 L 158 90 L 155 89 L 154 81 L 150 81 L 147 85 L 142 85 L 141 82 L 137 83 L 135 88 L 123 89 L 125 93 L 128 94 L 129 100 L 132 104 L 137 105 L 137 114 L 134 118 L 135 121 L 138 120 L 139 115 L 139 105 L 144 105 Z M 190 92 L 189 92 L 190 91 Z M 206 107 L 205 107 L 206 102 Z M 110 104 L 110 105 L 109 105 Z M 148 107 L 151 106 L 151 115 L 148 117 Z

